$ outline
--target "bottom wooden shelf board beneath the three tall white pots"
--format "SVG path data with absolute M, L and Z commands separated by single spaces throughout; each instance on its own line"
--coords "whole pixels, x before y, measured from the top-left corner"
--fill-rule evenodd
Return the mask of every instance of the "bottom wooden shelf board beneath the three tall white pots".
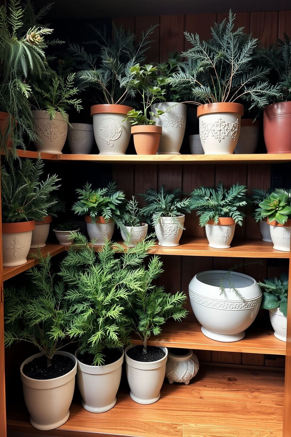
M 68 421 L 50 431 L 35 430 L 25 406 L 17 408 L 15 401 L 7 409 L 7 430 L 58 437 L 282 437 L 280 371 L 200 365 L 189 385 L 165 380 L 160 400 L 151 405 L 134 402 L 123 386 L 110 411 L 89 413 L 77 399 Z

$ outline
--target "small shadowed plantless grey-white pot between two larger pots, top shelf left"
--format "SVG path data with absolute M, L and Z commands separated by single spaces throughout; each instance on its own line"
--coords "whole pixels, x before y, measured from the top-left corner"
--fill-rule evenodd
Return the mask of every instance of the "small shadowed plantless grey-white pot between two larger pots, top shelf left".
M 70 152 L 73 155 L 89 155 L 94 144 L 93 125 L 71 123 L 71 126 L 68 126 L 67 136 Z

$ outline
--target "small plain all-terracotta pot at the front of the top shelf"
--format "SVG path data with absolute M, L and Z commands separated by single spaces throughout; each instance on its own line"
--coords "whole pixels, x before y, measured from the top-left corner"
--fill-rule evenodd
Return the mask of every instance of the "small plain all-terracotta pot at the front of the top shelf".
M 156 125 L 131 126 L 137 155 L 156 155 L 162 132 Z

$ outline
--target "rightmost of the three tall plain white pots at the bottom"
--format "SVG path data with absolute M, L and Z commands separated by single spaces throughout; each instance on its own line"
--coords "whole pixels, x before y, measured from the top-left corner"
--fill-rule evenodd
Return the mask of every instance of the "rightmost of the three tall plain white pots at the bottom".
M 164 382 L 168 350 L 164 350 L 165 356 L 158 361 L 144 363 L 132 360 L 127 355 L 127 350 L 134 346 L 127 346 L 125 349 L 125 361 L 127 381 L 130 386 L 130 397 L 138 404 L 148 405 L 157 402 L 161 396 L 161 387 Z

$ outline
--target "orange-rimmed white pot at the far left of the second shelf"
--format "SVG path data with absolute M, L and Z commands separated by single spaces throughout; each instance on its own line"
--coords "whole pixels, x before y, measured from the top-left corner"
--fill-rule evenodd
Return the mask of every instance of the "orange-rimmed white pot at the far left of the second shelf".
M 16 267 L 27 263 L 34 227 L 34 220 L 2 223 L 3 267 Z

